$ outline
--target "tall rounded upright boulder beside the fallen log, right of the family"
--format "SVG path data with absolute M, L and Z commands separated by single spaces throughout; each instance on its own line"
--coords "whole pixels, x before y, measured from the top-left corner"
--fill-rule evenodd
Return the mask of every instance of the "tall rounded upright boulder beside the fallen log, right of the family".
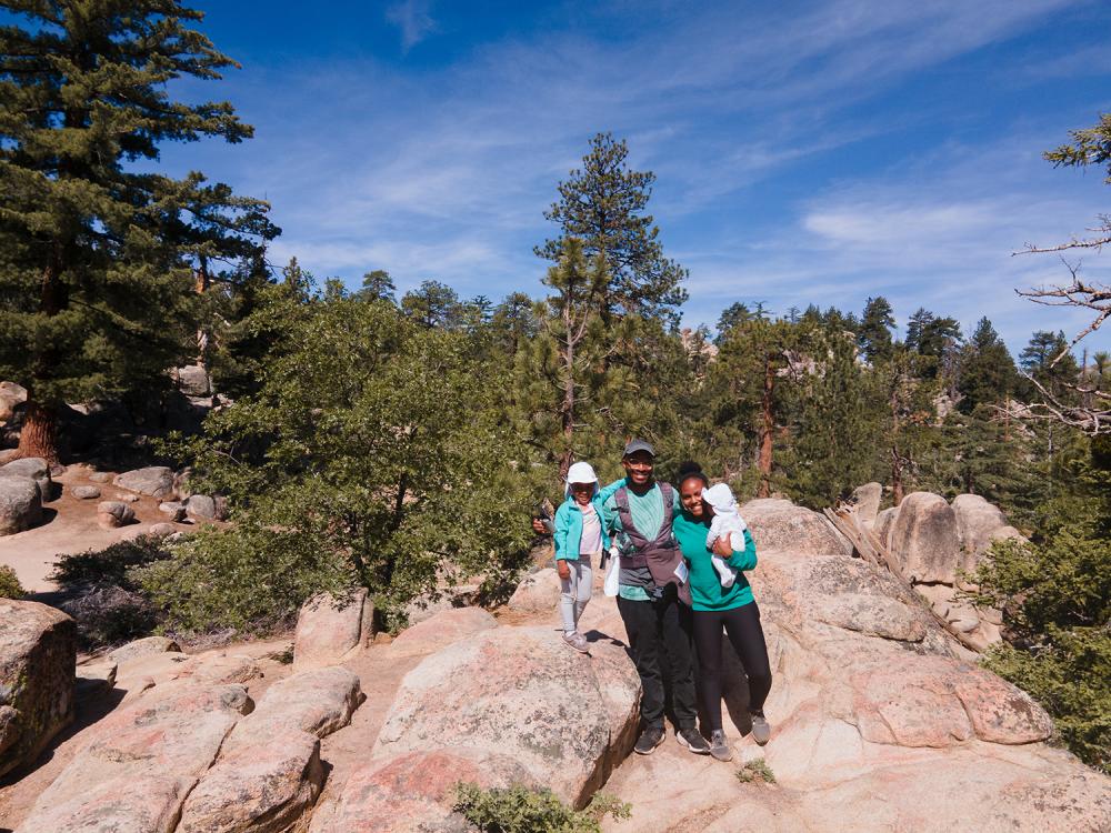
M 957 515 L 944 498 L 930 492 L 911 492 L 903 498 L 889 544 L 903 573 L 915 584 L 955 581 L 960 550 Z

